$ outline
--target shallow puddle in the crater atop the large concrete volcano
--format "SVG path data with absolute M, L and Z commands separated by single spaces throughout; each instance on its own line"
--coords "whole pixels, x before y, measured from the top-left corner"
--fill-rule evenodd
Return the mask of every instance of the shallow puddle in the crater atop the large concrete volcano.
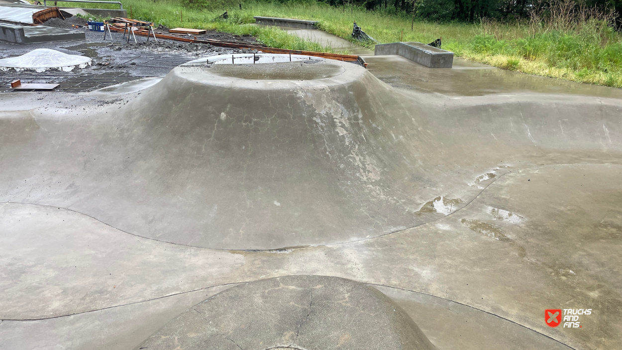
M 333 64 L 305 62 L 284 62 L 278 64 L 213 65 L 205 68 L 221 77 L 248 80 L 314 80 L 335 77 L 345 72 L 343 67 Z

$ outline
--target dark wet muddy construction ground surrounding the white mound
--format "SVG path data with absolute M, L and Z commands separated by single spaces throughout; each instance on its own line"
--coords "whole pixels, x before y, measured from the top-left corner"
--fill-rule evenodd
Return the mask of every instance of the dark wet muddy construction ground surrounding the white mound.
M 22 71 L 16 72 L 0 70 L 0 92 L 9 92 L 8 84 L 11 80 L 21 79 L 22 82 L 56 83 L 67 81 L 70 78 L 91 75 L 121 75 L 126 80 L 141 77 L 158 77 L 166 75 L 177 65 L 200 57 L 257 52 L 249 49 L 230 49 L 216 47 L 210 44 L 188 43 L 176 40 L 157 39 L 157 42 L 147 37 L 136 36 L 136 43 L 132 38 L 123 37 L 123 33 L 112 32 L 106 35 L 103 32 L 89 31 L 86 20 L 80 17 L 70 17 L 66 20 L 50 19 L 45 25 L 85 31 L 85 40 L 68 40 L 57 42 L 39 42 L 34 44 L 11 44 L 0 41 L 0 59 L 26 54 L 34 49 L 55 49 L 65 54 L 86 55 L 91 57 L 91 65 L 85 69 L 73 69 L 71 72 L 47 70 L 46 72 Z M 77 27 L 72 27 L 77 26 Z M 168 33 L 168 28 L 157 27 L 156 32 Z M 183 35 L 180 35 L 183 36 Z M 207 32 L 197 35 L 198 39 L 216 39 L 230 42 L 258 44 L 253 37 Z M 86 90 L 88 91 L 88 90 Z

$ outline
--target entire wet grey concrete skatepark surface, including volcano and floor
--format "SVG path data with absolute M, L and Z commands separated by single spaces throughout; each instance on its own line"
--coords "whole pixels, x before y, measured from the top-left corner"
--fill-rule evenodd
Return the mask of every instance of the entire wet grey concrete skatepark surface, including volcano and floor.
M 0 95 L 0 348 L 619 349 L 620 90 L 365 60 Z

